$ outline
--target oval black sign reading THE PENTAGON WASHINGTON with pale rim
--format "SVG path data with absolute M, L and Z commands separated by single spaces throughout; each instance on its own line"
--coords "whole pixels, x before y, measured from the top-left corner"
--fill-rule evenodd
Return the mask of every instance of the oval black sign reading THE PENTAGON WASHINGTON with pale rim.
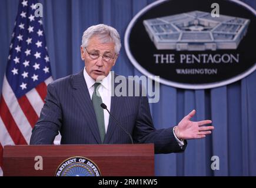
M 132 18 L 125 51 L 142 74 L 184 89 L 227 85 L 256 70 L 256 11 L 232 0 L 160 0 Z

